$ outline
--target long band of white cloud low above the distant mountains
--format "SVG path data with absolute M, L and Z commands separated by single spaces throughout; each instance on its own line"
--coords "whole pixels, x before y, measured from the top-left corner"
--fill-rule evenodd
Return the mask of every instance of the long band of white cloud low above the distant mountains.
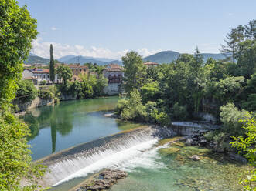
M 95 58 L 121 59 L 121 57 L 128 52 L 128 49 L 112 52 L 109 49 L 95 46 L 90 47 L 90 49 L 86 49 L 83 45 L 67 45 L 56 42 L 43 42 L 42 38 L 38 38 L 32 42 L 32 53 L 44 58 L 49 58 L 50 44 L 53 44 L 54 58 L 56 59 L 64 55 L 84 55 Z M 137 51 L 139 55 L 145 57 L 155 54 L 156 52 L 160 52 L 161 49 L 149 51 L 148 49 L 143 48 L 135 51 Z

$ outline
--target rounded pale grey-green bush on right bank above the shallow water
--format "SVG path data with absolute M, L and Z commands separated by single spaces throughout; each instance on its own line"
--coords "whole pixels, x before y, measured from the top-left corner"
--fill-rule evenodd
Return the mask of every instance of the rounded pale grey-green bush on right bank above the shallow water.
M 239 111 L 233 103 L 227 103 L 225 106 L 220 107 L 220 121 L 223 122 L 224 132 L 229 136 L 243 136 L 244 123 L 241 119 L 249 119 L 250 113 L 246 110 Z

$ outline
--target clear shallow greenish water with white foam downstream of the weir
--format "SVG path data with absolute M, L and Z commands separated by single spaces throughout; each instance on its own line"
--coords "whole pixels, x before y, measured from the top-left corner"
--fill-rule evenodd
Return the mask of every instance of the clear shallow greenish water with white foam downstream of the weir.
M 208 149 L 183 144 L 172 147 L 180 150 L 171 154 L 161 152 L 161 149 L 169 146 L 153 143 L 136 155 L 115 165 L 105 166 L 128 172 L 128 177 L 118 180 L 111 191 L 241 190 L 237 184 L 237 175 L 247 170 L 248 166 L 230 161 L 226 156 Z M 189 159 L 195 154 L 200 156 L 200 161 Z M 83 178 L 72 179 L 53 190 L 65 191 L 82 181 Z

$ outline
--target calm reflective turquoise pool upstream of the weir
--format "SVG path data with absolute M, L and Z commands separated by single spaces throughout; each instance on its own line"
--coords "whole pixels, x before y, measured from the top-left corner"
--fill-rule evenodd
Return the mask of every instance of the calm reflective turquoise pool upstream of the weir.
M 118 97 L 113 96 L 60 102 L 56 106 L 29 110 L 22 119 L 31 129 L 32 159 L 139 126 L 104 116 L 117 102 Z

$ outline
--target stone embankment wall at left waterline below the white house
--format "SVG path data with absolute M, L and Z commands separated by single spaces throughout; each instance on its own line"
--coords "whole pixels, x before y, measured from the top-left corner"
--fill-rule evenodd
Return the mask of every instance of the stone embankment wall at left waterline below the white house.
M 13 102 L 13 105 L 19 107 L 19 112 L 25 111 L 26 109 L 32 109 L 41 106 L 49 106 L 52 104 L 54 104 L 54 99 L 40 99 L 39 97 L 36 97 L 36 99 L 33 99 L 31 102 Z

